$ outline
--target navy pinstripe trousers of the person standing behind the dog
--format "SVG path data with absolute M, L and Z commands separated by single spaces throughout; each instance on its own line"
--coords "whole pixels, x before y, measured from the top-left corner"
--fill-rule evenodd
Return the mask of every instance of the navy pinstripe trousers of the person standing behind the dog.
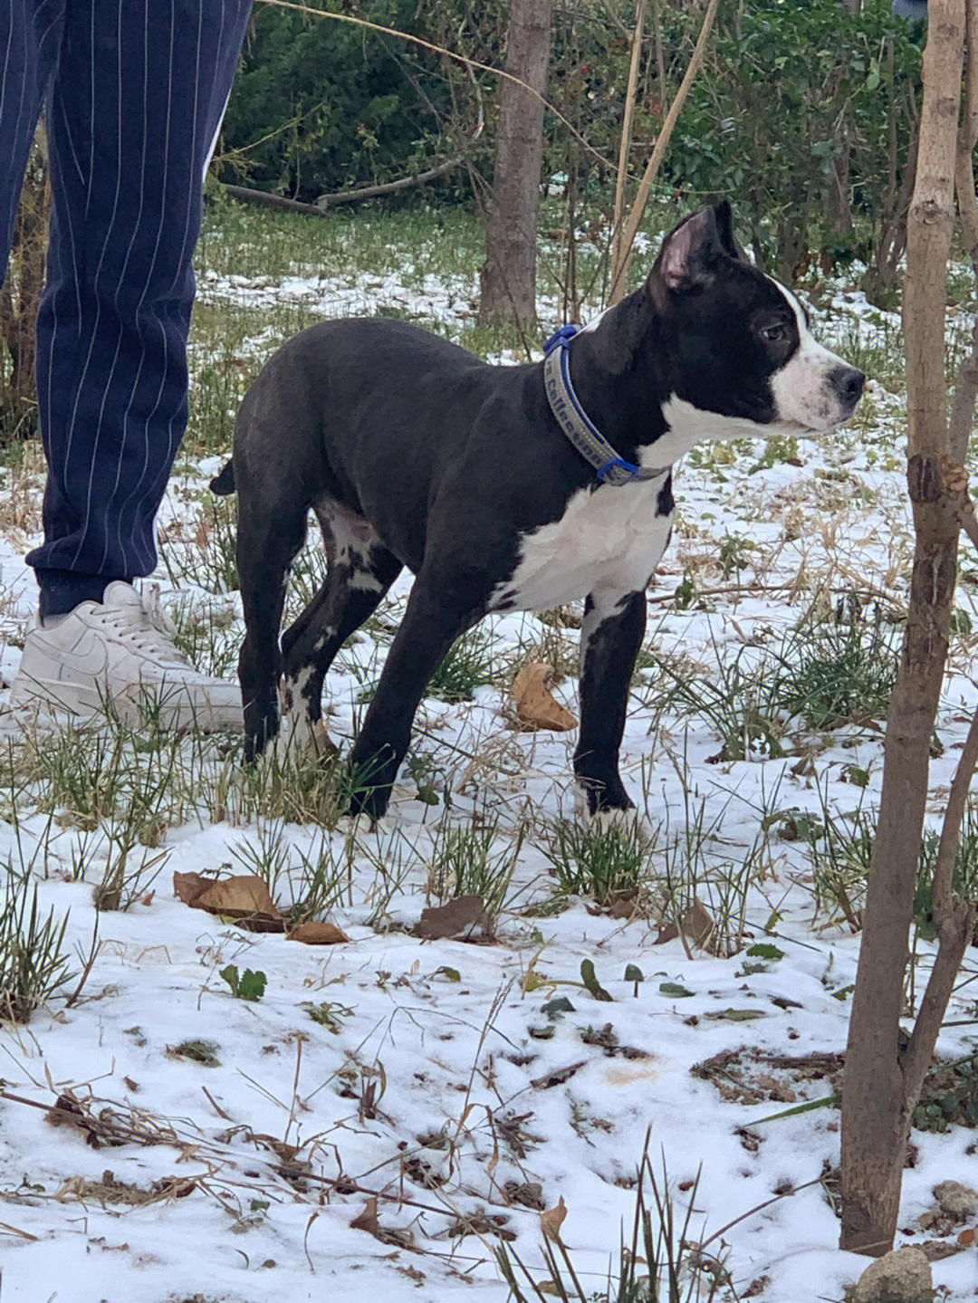
M 52 184 L 38 318 L 42 615 L 156 564 L 186 426 L 203 176 L 251 0 L 0 0 L 0 275 L 34 128 Z

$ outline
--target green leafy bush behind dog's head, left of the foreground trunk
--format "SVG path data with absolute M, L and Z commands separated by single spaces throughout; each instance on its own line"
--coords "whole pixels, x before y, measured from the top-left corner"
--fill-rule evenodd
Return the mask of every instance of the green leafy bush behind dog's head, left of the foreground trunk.
M 669 39 L 688 39 L 689 16 L 665 13 Z M 736 197 L 755 255 L 784 279 L 853 255 L 886 279 L 902 248 L 921 40 L 889 0 L 858 14 L 839 0 L 728 3 L 665 175 Z

